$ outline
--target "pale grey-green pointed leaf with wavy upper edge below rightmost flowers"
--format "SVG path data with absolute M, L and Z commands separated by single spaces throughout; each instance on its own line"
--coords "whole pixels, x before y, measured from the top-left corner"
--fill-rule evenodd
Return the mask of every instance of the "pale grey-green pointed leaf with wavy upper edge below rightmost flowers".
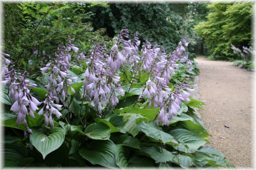
M 141 131 L 146 134 L 146 136 L 150 136 L 155 140 L 161 140 L 161 142 L 177 144 L 178 142 L 168 133 L 163 132 L 160 127 L 156 125 L 155 122 L 142 122 L 141 123 Z

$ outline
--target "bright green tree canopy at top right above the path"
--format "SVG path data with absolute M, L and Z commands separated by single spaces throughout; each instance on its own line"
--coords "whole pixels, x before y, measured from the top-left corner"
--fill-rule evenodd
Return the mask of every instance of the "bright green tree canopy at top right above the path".
M 252 45 L 252 5 L 250 2 L 207 5 L 207 21 L 194 26 L 194 30 L 205 38 L 210 55 L 234 57 L 231 43 L 238 48 Z

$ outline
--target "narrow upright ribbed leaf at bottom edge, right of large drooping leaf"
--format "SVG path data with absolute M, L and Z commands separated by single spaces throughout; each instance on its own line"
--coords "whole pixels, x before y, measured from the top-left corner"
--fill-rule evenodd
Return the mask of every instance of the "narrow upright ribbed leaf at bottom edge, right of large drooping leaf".
M 120 168 L 127 168 L 129 166 L 125 153 L 125 148 L 122 145 L 116 145 L 115 162 Z

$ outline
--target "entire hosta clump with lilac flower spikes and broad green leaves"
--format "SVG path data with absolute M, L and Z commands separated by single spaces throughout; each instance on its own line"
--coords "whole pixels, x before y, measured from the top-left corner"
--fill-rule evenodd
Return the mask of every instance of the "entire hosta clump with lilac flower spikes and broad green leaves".
M 5 167 L 233 167 L 205 146 L 185 37 L 171 52 L 149 41 L 139 49 L 128 29 L 86 54 L 73 41 L 37 81 L 1 53 Z

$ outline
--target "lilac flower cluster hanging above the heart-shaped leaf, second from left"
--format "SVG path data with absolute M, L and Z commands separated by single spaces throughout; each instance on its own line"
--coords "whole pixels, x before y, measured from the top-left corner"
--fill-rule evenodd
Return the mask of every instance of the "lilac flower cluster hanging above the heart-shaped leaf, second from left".
M 44 100 L 43 108 L 38 112 L 39 115 L 43 115 L 44 107 L 44 123 L 46 126 L 50 123 L 51 127 L 53 125 L 52 115 L 56 115 L 59 118 L 62 114 L 59 110 L 62 109 L 61 102 L 64 107 L 66 106 L 66 97 L 69 94 L 68 87 L 71 88 L 72 93 L 75 93 L 75 90 L 71 87 L 73 81 L 77 81 L 77 77 L 71 77 L 69 74 L 69 68 L 71 60 L 71 55 L 69 51 L 72 49 L 77 52 L 78 48 L 75 47 L 74 44 L 71 44 L 71 41 L 74 41 L 74 38 L 68 38 L 66 47 L 61 44 L 58 47 L 58 51 L 56 52 L 56 58 L 53 62 L 46 64 L 46 67 L 41 68 L 42 73 L 50 70 L 49 83 L 45 85 L 48 93 L 46 94 L 46 98 Z M 54 101 L 57 103 L 55 104 Z M 57 109 L 56 109 L 57 108 Z

